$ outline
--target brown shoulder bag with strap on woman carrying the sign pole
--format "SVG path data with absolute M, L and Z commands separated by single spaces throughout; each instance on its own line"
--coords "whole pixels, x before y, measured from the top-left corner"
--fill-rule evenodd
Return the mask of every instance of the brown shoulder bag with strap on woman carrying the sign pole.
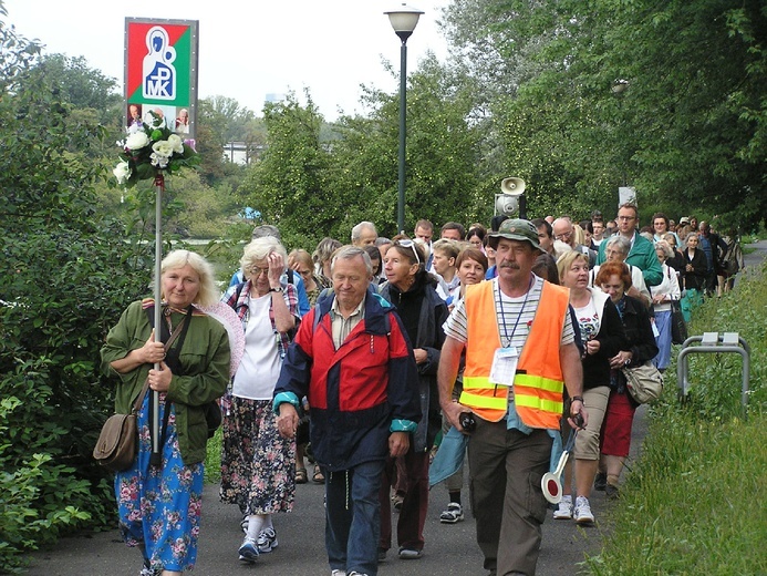
M 179 322 L 178 328 L 186 321 L 186 317 Z M 165 350 L 178 337 L 180 330 L 174 330 L 165 343 Z M 142 391 L 131 409 L 129 414 L 112 414 L 101 428 L 99 440 L 93 449 L 93 459 L 112 472 L 123 472 L 133 465 L 138 448 L 138 411 L 144 402 L 146 391 L 149 389 L 147 378 Z

